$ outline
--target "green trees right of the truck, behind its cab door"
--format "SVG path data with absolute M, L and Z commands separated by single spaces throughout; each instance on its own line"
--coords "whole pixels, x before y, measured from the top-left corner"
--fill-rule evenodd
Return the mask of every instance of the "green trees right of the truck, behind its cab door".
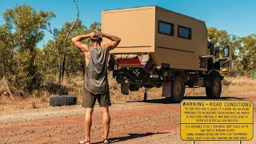
M 238 37 L 216 27 L 208 28 L 208 38 L 217 45 L 230 45 L 233 61 L 232 76 L 246 75 L 253 77 L 256 69 L 256 34 Z

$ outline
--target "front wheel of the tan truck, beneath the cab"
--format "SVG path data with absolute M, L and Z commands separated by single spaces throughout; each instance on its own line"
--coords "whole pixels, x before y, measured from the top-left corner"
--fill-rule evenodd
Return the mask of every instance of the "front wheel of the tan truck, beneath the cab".
M 206 87 L 207 98 L 217 99 L 222 94 L 222 80 L 220 76 L 214 75 L 211 78 L 210 86 Z

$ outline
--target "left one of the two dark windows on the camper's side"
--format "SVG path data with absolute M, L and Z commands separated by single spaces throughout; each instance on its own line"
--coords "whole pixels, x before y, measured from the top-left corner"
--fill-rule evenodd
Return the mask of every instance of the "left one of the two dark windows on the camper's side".
M 158 21 L 158 33 L 173 36 L 174 35 L 174 24 L 169 23 L 169 22 Z

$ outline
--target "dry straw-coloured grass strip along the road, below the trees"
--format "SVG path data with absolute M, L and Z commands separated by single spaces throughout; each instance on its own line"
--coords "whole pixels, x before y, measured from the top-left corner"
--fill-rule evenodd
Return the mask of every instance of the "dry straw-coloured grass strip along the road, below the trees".
M 120 84 L 115 82 L 115 79 L 111 77 L 111 74 L 109 75 L 109 83 L 110 83 L 110 98 L 111 98 L 111 102 L 113 103 L 143 99 L 144 89 L 130 92 L 129 95 L 122 95 L 120 92 L 120 89 L 121 89 Z M 0 90 L 5 90 L 5 87 L 0 86 Z M 58 87 L 55 87 L 55 88 L 58 89 Z M 67 90 L 69 95 L 76 96 L 78 98 L 78 105 L 81 104 L 82 94 L 83 94 L 82 78 L 67 79 L 62 83 L 62 89 L 64 91 Z M 14 89 L 10 89 L 10 90 L 14 90 Z M 222 94 L 232 94 L 232 93 L 241 94 L 241 93 L 249 93 L 252 91 L 254 92 L 256 91 L 256 79 L 254 78 L 225 77 L 225 79 L 222 81 Z M 14 92 L 11 91 L 11 92 L 12 92 L 12 97 L 10 97 L 10 94 L 6 94 L 0 91 L 0 111 L 10 110 L 10 109 L 31 109 L 31 108 L 47 107 L 49 106 L 49 98 L 52 96 L 58 95 L 58 94 L 50 93 L 49 90 L 40 90 L 40 91 L 35 90 L 33 94 L 25 95 L 25 96 L 23 95 L 23 97 L 17 95 L 20 93 L 15 93 L 15 91 Z M 206 95 L 205 88 L 203 87 L 196 88 L 196 89 L 187 88 L 185 95 L 188 95 L 188 94 L 190 96 Z M 149 99 L 162 98 L 162 89 L 161 88 L 149 89 L 148 98 Z

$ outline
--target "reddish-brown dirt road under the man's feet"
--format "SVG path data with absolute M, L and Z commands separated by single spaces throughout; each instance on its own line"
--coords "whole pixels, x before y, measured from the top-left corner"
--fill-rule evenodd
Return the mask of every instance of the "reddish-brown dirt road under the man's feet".
M 248 99 L 254 102 L 256 112 L 256 92 L 222 98 Z M 78 143 L 84 136 L 83 114 L 81 106 L 0 111 L 0 143 Z M 179 104 L 166 104 L 163 99 L 115 103 L 110 106 L 110 115 L 110 139 L 114 143 L 191 143 L 180 138 Z M 102 142 L 102 114 L 98 105 L 94 109 L 91 140 Z M 255 133 L 251 141 L 242 143 L 256 143 Z

